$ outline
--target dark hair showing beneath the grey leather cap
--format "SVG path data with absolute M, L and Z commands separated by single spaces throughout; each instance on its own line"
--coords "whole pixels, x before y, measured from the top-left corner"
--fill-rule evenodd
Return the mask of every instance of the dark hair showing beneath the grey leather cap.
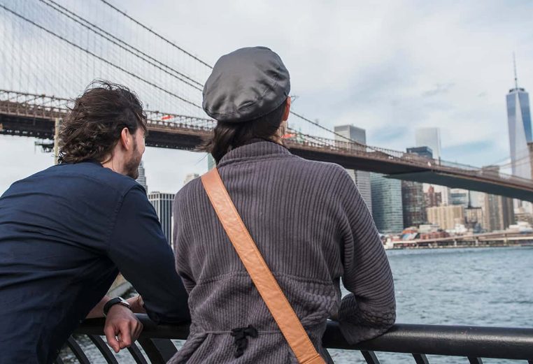
M 218 122 L 211 136 L 200 146 L 203 152 L 211 153 L 218 163 L 227 152 L 252 139 L 274 141 L 281 125 L 285 102 L 268 114 L 248 122 Z

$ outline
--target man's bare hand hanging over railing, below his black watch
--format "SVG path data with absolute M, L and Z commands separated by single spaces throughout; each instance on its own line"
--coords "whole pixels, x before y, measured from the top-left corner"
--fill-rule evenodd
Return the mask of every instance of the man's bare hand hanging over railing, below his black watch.
M 143 324 L 138 321 L 129 308 L 122 305 L 113 305 L 106 317 L 104 333 L 111 348 L 118 353 L 120 349 L 129 347 L 138 335 L 141 335 Z

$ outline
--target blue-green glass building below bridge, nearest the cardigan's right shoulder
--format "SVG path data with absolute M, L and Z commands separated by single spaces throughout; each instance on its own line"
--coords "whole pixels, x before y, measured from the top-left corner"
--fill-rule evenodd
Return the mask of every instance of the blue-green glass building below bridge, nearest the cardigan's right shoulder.
M 380 233 L 400 233 L 404 229 L 401 181 L 370 173 L 372 217 Z

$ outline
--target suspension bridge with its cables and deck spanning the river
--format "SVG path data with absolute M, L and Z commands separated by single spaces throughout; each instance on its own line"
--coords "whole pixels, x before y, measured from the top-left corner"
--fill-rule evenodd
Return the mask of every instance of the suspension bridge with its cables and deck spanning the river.
M 115 33 L 99 22 L 97 10 L 83 5 L 76 9 L 53 0 L 24 3 L 0 3 L 1 15 L 11 20 L 9 25 L 2 22 L 6 36 L 1 48 L 0 134 L 39 138 L 52 150 L 56 127 L 68 111 L 67 98 L 90 82 L 88 75 L 119 80 L 136 90 L 150 110 L 158 110 L 147 111 L 150 147 L 195 150 L 210 133 L 215 121 L 206 118 L 200 100 L 211 65 L 107 1 L 101 1 L 102 6 L 125 24 Z M 31 34 L 31 41 L 23 34 Z M 28 52 L 37 44 L 47 47 L 38 54 Z M 292 112 L 290 126 L 285 145 L 306 159 L 533 201 L 532 180 L 499 173 L 497 168 L 364 145 L 299 112 Z

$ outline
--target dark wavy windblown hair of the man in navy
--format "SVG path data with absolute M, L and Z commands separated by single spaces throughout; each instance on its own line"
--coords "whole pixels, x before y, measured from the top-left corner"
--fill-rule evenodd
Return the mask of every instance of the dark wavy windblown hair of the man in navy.
M 136 94 L 108 81 L 91 83 L 59 128 L 59 163 L 103 161 L 125 127 L 130 133 L 147 131 L 146 114 Z

